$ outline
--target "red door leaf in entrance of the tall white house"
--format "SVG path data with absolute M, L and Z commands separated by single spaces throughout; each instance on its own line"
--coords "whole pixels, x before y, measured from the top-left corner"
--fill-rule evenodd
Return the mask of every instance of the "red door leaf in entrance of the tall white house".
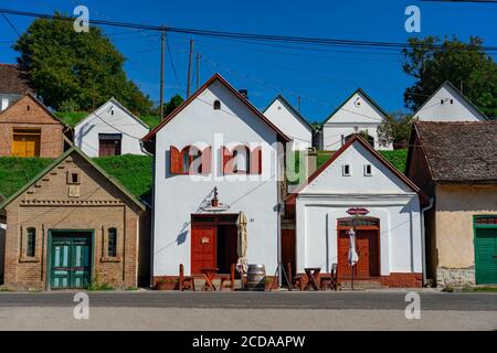
M 215 227 L 191 229 L 191 272 L 201 274 L 201 268 L 216 267 Z

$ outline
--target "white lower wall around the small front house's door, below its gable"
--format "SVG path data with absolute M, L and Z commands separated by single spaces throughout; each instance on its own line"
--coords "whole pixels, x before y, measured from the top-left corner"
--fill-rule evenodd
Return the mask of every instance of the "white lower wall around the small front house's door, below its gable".
M 338 261 L 337 220 L 355 206 L 380 220 L 380 275 L 421 272 L 421 223 L 416 195 L 328 195 L 297 199 L 297 271 Z

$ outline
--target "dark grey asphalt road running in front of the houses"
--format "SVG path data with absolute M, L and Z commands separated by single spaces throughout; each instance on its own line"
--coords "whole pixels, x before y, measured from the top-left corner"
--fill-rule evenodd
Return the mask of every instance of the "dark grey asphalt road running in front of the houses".
M 89 292 L 95 308 L 403 310 L 406 292 Z M 423 310 L 497 311 L 497 293 L 420 292 Z M 0 308 L 68 308 L 74 293 L 0 293 Z

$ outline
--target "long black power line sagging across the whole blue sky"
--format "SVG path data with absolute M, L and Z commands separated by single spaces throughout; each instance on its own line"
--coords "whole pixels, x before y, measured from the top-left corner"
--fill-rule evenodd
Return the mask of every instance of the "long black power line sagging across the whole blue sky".
M 41 19 L 51 20 L 63 20 L 63 21 L 74 21 L 73 17 L 64 15 L 53 15 L 38 12 L 27 12 L 17 11 L 9 9 L 0 9 L 0 13 L 8 13 L 22 17 L 32 17 Z M 346 46 L 346 47 L 376 47 L 376 49 L 411 49 L 412 46 L 417 46 L 417 44 L 410 43 L 394 43 L 384 41 L 358 41 L 358 40 L 342 40 L 342 39 L 326 39 L 326 38 L 307 38 L 307 36 L 290 36 L 290 35 L 274 35 L 274 34 L 255 34 L 255 33 L 243 33 L 243 32 L 228 32 L 228 31 L 213 31 L 213 30 L 199 30 L 189 28 L 173 28 L 166 25 L 148 25 L 131 22 L 118 22 L 118 21 L 106 21 L 106 20 L 92 20 L 92 23 L 99 25 L 110 25 L 120 28 L 131 28 L 137 30 L 150 30 L 150 31 L 167 31 L 175 33 L 183 33 L 189 35 L 201 35 L 201 36 L 214 36 L 214 38 L 228 38 L 228 39 L 242 39 L 250 41 L 262 41 L 262 42 L 273 42 L 273 43 L 294 43 L 302 45 L 328 45 L 328 46 Z M 421 44 L 419 44 L 421 45 Z M 434 49 L 443 50 L 442 44 L 434 44 Z M 461 46 L 454 50 L 459 51 L 472 51 L 476 47 L 473 46 Z M 483 51 L 496 52 L 497 46 L 483 46 Z

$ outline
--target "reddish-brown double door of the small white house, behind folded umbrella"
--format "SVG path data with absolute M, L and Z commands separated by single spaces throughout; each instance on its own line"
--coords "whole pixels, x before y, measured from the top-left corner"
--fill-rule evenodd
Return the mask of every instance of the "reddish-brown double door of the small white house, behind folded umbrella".
M 358 229 L 356 232 L 356 252 L 359 261 L 353 267 L 356 278 L 380 276 L 380 252 L 378 245 L 378 229 Z M 348 264 L 349 235 L 348 229 L 340 229 L 338 236 L 338 276 L 350 278 L 351 270 Z

